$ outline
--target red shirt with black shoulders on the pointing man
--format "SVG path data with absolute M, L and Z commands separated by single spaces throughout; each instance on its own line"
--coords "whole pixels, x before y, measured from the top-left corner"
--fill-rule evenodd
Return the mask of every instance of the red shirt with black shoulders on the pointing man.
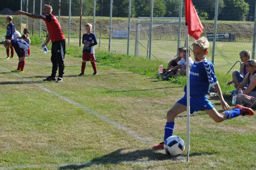
M 61 30 L 61 26 L 57 18 L 52 14 L 40 15 L 41 18 L 45 21 L 47 30 L 49 31 L 50 38 L 52 42 L 64 40 L 64 34 Z

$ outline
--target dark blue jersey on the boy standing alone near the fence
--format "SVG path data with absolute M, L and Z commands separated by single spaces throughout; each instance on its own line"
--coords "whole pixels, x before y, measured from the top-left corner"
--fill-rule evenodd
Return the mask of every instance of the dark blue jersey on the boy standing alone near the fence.
M 84 43 L 84 40 L 86 40 L 86 43 Z M 82 43 L 84 44 L 83 52 L 84 53 L 89 53 L 89 54 L 94 54 L 94 45 L 97 45 L 97 39 L 96 35 L 91 33 L 90 35 L 84 34 Z M 89 47 L 86 47 L 86 45 L 89 44 Z

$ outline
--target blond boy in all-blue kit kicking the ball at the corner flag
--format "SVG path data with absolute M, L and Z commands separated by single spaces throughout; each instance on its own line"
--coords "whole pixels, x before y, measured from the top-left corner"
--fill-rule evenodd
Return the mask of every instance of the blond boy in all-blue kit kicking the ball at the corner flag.
M 239 115 L 253 116 L 254 112 L 251 108 L 246 108 L 241 105 L 236 105 L 234 110 L 229 111 L 229 105 L 224 101 L 224 98 L 221 93 L 221 88 L 218 85 L 217 78 L 214 74 L 214 68 L 212 63 L 205 58 L 205 55 L 208 54 L 209 42 L 207 38 L 202 37 L 199 40 L 196 40 L 192 43 L 193 53 L 195 62 L 192 65 L 189 81 L 190 81 L 190 114 L 195 111 L 204 110 L 206 113 L 215 121 L 223 122 L 226 119 L 232 119 Z M 221 100 L 221 106 L 223 109 L 227 109 L 222 113 L 213 107 L 212 103 L 206 97 L 206 94 L 209 90 L 209 86 L 214 86 L 218 96 Z M 174 132 L 174 119 L 175 117 L 186 111 L 187 105 L 187 96 L 186 96 L 186 86 L 184 88 L 185 95 L 182 99 L 177 101 L 175 105 L 167 112 L 167 122 L 165 126 L 164 141 L 172 136 Z M 158 145 L 153 146 L 153 149 L 163 149 L 164 142 L 161 142 Z

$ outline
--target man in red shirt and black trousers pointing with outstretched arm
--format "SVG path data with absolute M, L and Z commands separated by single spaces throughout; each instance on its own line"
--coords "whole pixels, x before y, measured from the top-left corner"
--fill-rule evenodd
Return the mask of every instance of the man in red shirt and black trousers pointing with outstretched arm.
M 52 15 L 52 6 L 44 5 L 42 8 L 43 15 L 29 14 L 24 11 L 15 11 L 16 14 L 26 15 L 35 19 L 43 19 L 46 23 L 47 29 L 49 31 L 49 36 L 47 41 L 44 43 L 45 46 L 48 45 L 49 41 L 52 41 L 52 75 L 44 79 L 44 81 L 56 81 L 62 82 L 64 74 L 64 57 L 65 57 L 65 45 L 66 40 L 63 32 L 61 31 L 61 26 Z M 58 70 L 59 69 L 59 70 Z M 56 73 L 58 70 L 58 79 L 56 80 Z

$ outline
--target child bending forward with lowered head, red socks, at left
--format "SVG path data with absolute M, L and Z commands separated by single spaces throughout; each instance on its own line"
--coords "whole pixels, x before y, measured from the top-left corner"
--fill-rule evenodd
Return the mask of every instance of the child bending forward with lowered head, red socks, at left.
M 19 57 L 18 68 L 17 70 L 12 70 L 12 72 L 23 73 L 25 57 L 29 56 L 30 46 L 25 41 L 20 39 L 5 40 L 3 45 L 5 48 L 13 47 Z

